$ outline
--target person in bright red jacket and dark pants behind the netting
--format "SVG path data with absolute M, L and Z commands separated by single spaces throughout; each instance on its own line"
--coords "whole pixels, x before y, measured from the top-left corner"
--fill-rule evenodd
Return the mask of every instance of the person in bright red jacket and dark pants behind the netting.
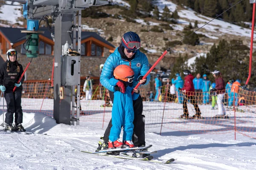
M 189 70 L 184 70 L 183 74 L 185 75 L 185 79 L 184 79 L 184 86 L 181 89 L 181 91 L 184 94 L 183 97 L 183 115 L 181 115 L 181 118 L 189 118 L 189 111 L 188 111 L 188 107 L 187 107 L 187 102 L 188 100 L 192 103 L 192 105 L 194 105 L 195 108 L 195 115 L 192 116 L 191 118 L 195 119 L 195 118 L 201 118 L 201 111 L 198 107 L 198 105 L 195 102 L 195 88 L 194 88 L 194 84 L 193 84 L 193 79 L 194 77 L 192 76 L 191 72 Z

